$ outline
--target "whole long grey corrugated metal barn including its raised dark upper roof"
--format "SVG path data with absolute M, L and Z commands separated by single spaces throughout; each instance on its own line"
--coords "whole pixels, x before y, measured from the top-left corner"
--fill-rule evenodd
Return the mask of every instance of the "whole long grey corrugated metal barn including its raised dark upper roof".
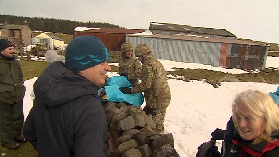
M 134 46 L 150 45 L 158 59 L 216 67 L 264 69 L 268 45 L 243 41 L 226 29 L 150 22 L 153 35 L 127 34 Z

